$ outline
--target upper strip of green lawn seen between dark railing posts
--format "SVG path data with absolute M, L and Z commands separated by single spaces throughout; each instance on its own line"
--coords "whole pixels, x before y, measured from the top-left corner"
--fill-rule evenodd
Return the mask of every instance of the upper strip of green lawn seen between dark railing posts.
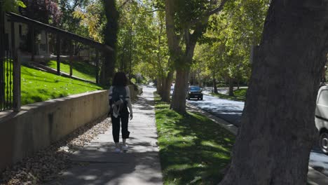
M 74 61 L 72 64 L 73 64 L 73 76 L 76 76 L 78 78 L 83 78 L 87 81 L 95 82 L 95 73 L 96 73 L 95 66 L 88 64 L 86 62 L 76 62 L 76 61 Z M 47 66 L 53 69 L 57 69 L 57 62 L 51 60 L 47 63 Z M 69 74 L 69 62 L 67 61 L 60 62 L 60 71 Z

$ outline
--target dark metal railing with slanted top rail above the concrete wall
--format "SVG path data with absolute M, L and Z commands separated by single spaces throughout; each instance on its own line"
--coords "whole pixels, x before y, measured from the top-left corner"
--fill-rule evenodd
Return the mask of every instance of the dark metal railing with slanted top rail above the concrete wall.
M 27 29 L 31 35 L 31 38 L 29 38 L 31 39 L 31 42 L 29 43 L 31 50 L 25 50 L 25 48 L 22 47 L 22 43 L 27 43 L 27 40 L 23 41 L 22 38 L 16 34 L 17 32 L 15 32 L 15 29 L 17 28 L 15 27 L 17 26 L 15 26 L 15 24 L 27 25 Z M 21 29 L 21 27 L 18 28 Z M 48 47 L 46 48 L 47 53 L 57 55 L 57 69 L 55 69 L 55 74 L 58 75 L 78 78 L 78 76 L 74 76 L 73 74 L 73 67 L 76 67 L 76 71 L 79 69 L 83 73 L 85 72 L 88 74 L 87 81 L 93 82 L 94 80 L 92 78 L 94 78 L 95 83 L 99 83 L 100 66 L 102 66 L 102 62 L 104 62 L 104 55 L 102 55 L 102 53 L 113 51 L 113 48 L 102 43 L 43 24 L 36 20 L 23 17 L 22 15 L 17 15 L 15 13 L 4 13 L 2 8 L 0 8 L 0 111 L 8 109 L 13 109 L 13 111 L 16 112 L 20 111 L 20 64 L 21 60 L 26 59 L 26 53 L 31 53 L 31 59 L 29 62 L 32 65 L 41 65 L 41 63 L 43 63 L 43 61 L 37 61 L 34 57 L 34 54 L 36 53 L 34 50 L 36 48 L 36 34 L 34 34 L 34 29 L 39 32 L 42 31 L 44 35 L 46 35 L 46 47 Z M 5 31 L 8 33 L 6 34 Z M 47 39 L 48 35 L 50 35 L 50 40 Z M 20 50 L 22 52 L 20 52 Z M 53 57 L 53 55 L 49 56 L 50 59 Z M 44 58 L 46 59 L 40 59 L 39 57 L 38 60 L 49 61 L 48 57 Z M 84 63 L 83 66 L 81 66 L 81 62 L 87 62 L 87 67 L 85 67 Z M 69 64 L 69 71 L 67 71 L 67 67 L 62 67 L 63 70 L 61 71 L 61 63 L 66 65 Z M 74 66 L 74 64 L 76 65 Z M 54 69 L 49 69 L 49 67 L 45 68 L 51 73 L 54 73 Z

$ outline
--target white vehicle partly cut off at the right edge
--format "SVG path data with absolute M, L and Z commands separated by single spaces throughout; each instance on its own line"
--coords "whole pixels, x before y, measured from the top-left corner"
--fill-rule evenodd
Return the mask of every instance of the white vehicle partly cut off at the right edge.
M 315 126 L 319 130 L 319 146 L 328 155 L 328 85 L 322 86 L 317 93 Z

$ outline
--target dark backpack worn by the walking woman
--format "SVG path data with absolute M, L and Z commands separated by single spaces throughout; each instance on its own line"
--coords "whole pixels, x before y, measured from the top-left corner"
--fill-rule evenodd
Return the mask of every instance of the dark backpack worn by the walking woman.
M 126 113 L 128 113 L 128 102 L 125 100 L 125 97 L 126 89 L 124 86 L 113 86 L 111 101 L 109 101 L 109 104 L 112 108 L 112 115 L 116 114 L 117 116 L 124 116 Z M 114 114 L 113 111 L 115 111 Z

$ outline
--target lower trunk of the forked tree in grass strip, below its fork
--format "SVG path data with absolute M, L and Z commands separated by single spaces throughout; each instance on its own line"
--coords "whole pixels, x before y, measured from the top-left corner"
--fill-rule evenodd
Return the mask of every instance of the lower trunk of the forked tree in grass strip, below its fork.
M 186 113 L 186 90 L 188 86 L 188 69 L 177 69 L 175 80 L 175 91 L 172 95 L 171 109 L 181 113 Z

